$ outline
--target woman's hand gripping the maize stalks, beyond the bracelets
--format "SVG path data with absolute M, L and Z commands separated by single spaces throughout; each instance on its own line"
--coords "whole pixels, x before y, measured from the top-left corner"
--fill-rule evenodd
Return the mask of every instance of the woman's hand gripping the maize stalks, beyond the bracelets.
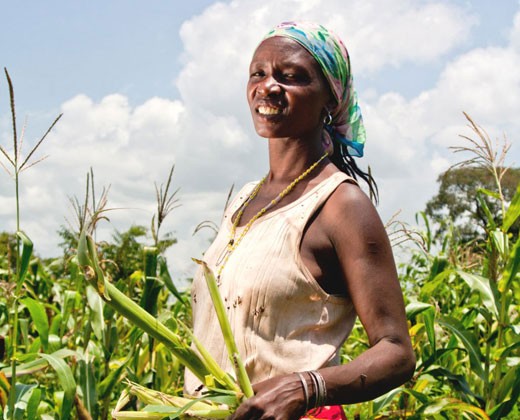
M 232 420 L 298 420 L 305 414 L 305 395 L 298 375 L 278 376 L 253 385 Z

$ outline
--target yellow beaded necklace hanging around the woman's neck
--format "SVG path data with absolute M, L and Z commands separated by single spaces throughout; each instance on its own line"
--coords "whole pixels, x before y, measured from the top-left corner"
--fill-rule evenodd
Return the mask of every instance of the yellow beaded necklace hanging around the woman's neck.
M 233 251 L 237 248 L 238 244 L 242 241 L 244 236 L 246 236 L 246 233 L 249 231 L 251 226 L 254 222 L 256 222 L 265 212 L 267 212 L 269 209 L 276 206 L 282 198 L 284 198 L 287 194 L 289 194 L 294 187 L 307 175 L 309 175 L 315 168 L 318 166 L 323 159 L 325 159 L 328 156 L 328 153 L 325 153 L 322 157 L 320 157 L 316 162 L 314 162 L 311 166 L 309 166 L 305 171 L 303 171 L 298 177 L 294 179 L 293 182 L 291 182 L 285 189 L 278 194 L 273 200 L 271 200 L 265 207 L 263 207 L 258 213 L 256 213 L 250 220 L 247 222 L 247 224 L 244 226 L 244 230 L 240 234 L 240 236 L 235 239 L 236 230 L 238 227 L 238 224 L 240 223 L 240 219 L 242 218 L 242 215 L 244 214 L 244 211 L 246 207 L 253 201 L 253 199 L 258 194 L 258 191 L 260 191 L 260 188 L 265 183 L 265 180 L 267 178 L 267 175 L 262 178 L 262 180 L 256 185 L 255 189 L 251 192 L 249 197 L 244 201 L 244 203 L 240 206 L 240 210 L 237 213 L 237 217 L 235 218 L 235 222 L 231 226 L 231 232 L 229 234 L 229 242 L 226 246 L 225 252 L 223 255 L 220 256 L 220 258 L 217 261 L 217 265 L 220 265 L 217 271 L 217 278 L 220 279 L 220 274 L 222 273 L 222 270 L 224 269 L 230 255 L 233 253 Z

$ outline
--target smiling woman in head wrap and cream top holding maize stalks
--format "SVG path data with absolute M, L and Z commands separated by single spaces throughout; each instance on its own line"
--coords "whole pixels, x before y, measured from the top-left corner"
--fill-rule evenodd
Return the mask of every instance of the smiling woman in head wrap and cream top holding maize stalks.
M 204 256 L 254 384 L 233 418 L 344 418 L 340 404 L 373 399 L 415 367 L 390 244 L 355 180 L 376 191 L 352 159 L 364 128 L 345 47 L 322 26 L 279 25 L 254 53 L 247 99 L 269 172 L 235 197 Z M 201 273 L 192 306 L 195 335 L 232 371 Z M 338 365 L 356 315 L 371 347 Z M 187 373 L 187 391 L 199 385 Z M 333 407 L 309 411 L 323 406 Z

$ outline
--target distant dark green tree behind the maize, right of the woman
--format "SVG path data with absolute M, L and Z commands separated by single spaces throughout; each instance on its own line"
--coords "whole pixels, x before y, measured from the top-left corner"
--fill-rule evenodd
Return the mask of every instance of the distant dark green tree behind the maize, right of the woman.
M 439 191 L 426 204 L 426 214 L 438 224 L 437 238 L 446 233 L 450 224 L 455 227 L 454 234 L 461 242 L 482 238 L 487 224 L 483 202 L 494 216 L 495 222 L 500 224 L 500 200 L 479 193 L 482 189 L 496 189 L 495 179 L 489 170 L 481 166 L 451 168 L 442 173 L 437 182 L 440 184 Z M 519 184 L 520 168 L 509 168 L 501 180 L 506 201 L 511 201 Z M 517 221 L 510 232 L 516 237 L 519 228 L 520 223 Z

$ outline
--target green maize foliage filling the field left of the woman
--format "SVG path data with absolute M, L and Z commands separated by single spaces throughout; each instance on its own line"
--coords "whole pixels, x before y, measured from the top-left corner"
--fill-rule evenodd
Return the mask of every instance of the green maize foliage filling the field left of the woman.
M 183 373 L 179 360 L 164 345 L 155 344 L 117 315 L 91 286 L 85 285 L 72 258 L 78 240 L 74 229 L 60 231 L 64 245 L 62 258 L 41 260 L 33 255 L 32 241 L 20 229 L 19 174 L 31 166 L 29 159 L 59 118 L 27 157 L 20 159 L 14 90 L 7 72 L 6 76 L 14 155 L 10 156 L 0 145 L 0 158 L 7 160 L 2 166 L 15 180 L 13 204 L 17 226 L 14 234 L 0 233 L 0 287 L 4 291 L 0 294 L 0 415 L 5 419 L 106 419 L 122 391 L 124 378 L 178 393 Z M 71 200 L 80 229 L 87 216 L 104 218 L 107 191 L 103 190 L 99 200 L 93 191 L 91 171 L 85 200 Z M 166 199 L 170 197 L 168 188 L 163 191 L 161 187 L 160 193 Z M 161 222 L 172 210 L 172 204 L 166 201 Z M 93 229 L 95 225 L 88 227 Z M 111 268 L 112 276 L 107 280 L 136 302 L 189 323 L 186 294 L 173 284 L 166 260 L 155 252 L 160 261 L 155 272 L 143 267 L 142 242 L 151 236 L 162 251 L 175 243 L 171 234 L 159 237 L 158 226 L 154 234 L 132 226 L 128 232 L 116 232 L 113 241 L 103 244 L 101 255 L 105 253 L 110 259 L 103 257 L 98 263 L 103 269 Z M 150 294 L 146 292 L 146 281 L 154 277 L 160 287 Z M 170 297 L 173 290 L 177 300 Z M 143 295 L 146 297 L 142 298 Z

